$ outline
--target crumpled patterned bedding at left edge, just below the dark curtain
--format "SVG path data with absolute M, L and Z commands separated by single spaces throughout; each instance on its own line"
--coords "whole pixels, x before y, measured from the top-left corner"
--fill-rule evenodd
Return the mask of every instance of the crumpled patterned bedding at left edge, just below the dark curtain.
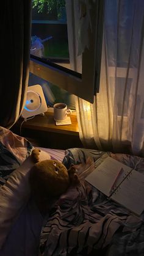
M 0 188 L 13 170 L 31 154 L 32 144 L 24 137 L 0 126 Z

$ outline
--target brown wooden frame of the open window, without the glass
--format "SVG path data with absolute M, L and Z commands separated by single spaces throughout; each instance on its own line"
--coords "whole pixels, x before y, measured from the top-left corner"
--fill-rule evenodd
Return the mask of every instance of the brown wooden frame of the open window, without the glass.
M 71 1 L 71 0 L 70 0 Z M 83 98 L 90 103 L 99 92 L 99 77 L 101 68 L 101 51 L 103 42 L 104 0 L 88 0 L 92 5 L 91 23 L 89 29 L 89 48 L 82 53 L 82 75 L 68 71 L 57 64 L 46 64 L 42 59 L 31 54 L 29 71 L 34 75 L 67 90 L 69 93 Z M 73 0 L 71 1 L 73 4 Z M 94 6 L 95 8 L 94 8 Z

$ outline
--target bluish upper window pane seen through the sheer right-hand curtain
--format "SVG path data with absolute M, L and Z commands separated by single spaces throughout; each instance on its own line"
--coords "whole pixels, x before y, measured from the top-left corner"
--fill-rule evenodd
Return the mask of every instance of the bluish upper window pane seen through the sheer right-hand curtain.
M 123 4 L 115 0 L 105 2 L 105 33 L 110 67 L 124 68 L 128 67 L 128 64 L 129 67 L 138 66 L 139 29 L 135 31 L 134 37 L 132 31 L 134 13 L 134 4 L 131 1 L 123 1 Z

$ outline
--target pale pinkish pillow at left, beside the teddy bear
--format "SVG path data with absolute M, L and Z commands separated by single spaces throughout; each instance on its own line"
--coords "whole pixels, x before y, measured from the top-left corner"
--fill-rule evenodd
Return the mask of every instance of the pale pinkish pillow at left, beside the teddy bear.
M 40 161 L 50 159 L 51 156 L 42 151 Z M 34 166 L 31 156 L 29 156 L 20 167 L 14 170 L 9 179 L 0 189 L 0 249 L 4 244 L 7 235 L 16 218 L 20 215 L 31 194 L 29 185 L 29 170 Z

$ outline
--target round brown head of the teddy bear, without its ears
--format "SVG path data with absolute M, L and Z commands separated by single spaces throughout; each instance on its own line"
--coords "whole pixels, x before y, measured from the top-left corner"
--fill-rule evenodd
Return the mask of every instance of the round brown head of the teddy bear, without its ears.
M 57 160 L 38 162 L 31 169 L 31 189 L 33 194 L 58 197 L 70 185 L 67 168 Z

